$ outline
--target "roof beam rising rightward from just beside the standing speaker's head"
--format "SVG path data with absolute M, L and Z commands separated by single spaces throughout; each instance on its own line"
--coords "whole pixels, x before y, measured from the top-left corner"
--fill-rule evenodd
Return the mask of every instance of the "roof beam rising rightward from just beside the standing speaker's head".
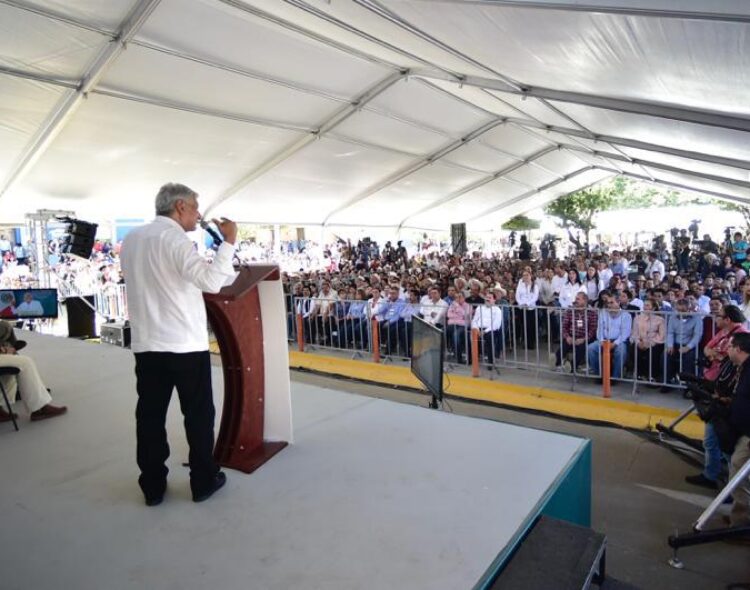
M 368 88 L 365 92 L 357 96 L 349 104 L 344 105 L 343 107 L 338 109 L 335 113 L 333 113 L 322 125 L 320 125 L 320 127 L 318 127 L 318 129 L 316 129 L 312 133 L 309 133 L 308 135 L 305 135 L 304 137 L 298 139 L 297 141 L 293 142 L 291 145 L 282 149 L 280 152 L 274 154 L 268 160 L 260 164 L 258 167 L 254 168 L 253 170 L 245 174 L 236 183 L 234 183 L 227 190 L 222 192 L 208 206 L 208 208 L 204 212 L 204 215 L 208 215 L 208 213 L 212 211 L 217 205 L 219 205 L 220 203 L 223 203 L 230 197 L 234 196 L 236 193 L 241 191 L 243 188 L 245 188 L 247 185 L 249 185 L 259 176 L 262 176 L 263 174 L 265 174 L 272 168 L 281 164 L 283 161 L 288 160 L 294 154 L 299 152 L 304 147 L 308 146 L 310 143 L 312 143 L 316 139 L 323 137 L 326 133 L 335 129 L 338 125 L 346 121 L 349 117 L 351 117 L 364 105 L 366 105 L 368 102 L 370 102 L 371 100 L 373 100 L 374 98 L 376 98 L 377 96 L 379 96 L 380 94 L 388 90 L 391 86 L 393 86 L 399 80 L 404 79 L 407 75 L 408 75 L 408 71 L 406 70 L 401 71 L 401 72 L 396 72 L 396 73 L 390 74 L 389 76 L 380 80 L 374 86 L 371 86 L 370 88 Z

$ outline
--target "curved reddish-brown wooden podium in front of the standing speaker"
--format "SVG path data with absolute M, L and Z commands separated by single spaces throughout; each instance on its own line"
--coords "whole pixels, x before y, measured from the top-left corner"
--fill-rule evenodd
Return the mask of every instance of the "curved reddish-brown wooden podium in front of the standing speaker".
M 288 444 L 288 438 L 264 439 L 269 392 L 260 293 L 263 281 L 276 281 L 281 293 L 278 266 L 253 265 L 242 267 L 234 283 L 219 293 L 203 295 L 224 368 L 224 409 L 214 456 L 223 467 L 245 473 L 255 471 Z M 285 332 L 282 335 L 286 345 Z M 287 375 L 282 378 L 288 384 L 288 359 L 286 367 Z M 288 398 L 288 388 L 286 395 Z M 288 405 L 291 429 L 291 403 Z

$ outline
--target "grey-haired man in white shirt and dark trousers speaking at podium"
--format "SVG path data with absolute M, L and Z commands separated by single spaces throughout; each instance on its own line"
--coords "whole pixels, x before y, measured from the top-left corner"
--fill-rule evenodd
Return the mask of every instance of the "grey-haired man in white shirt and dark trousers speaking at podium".
M 217 293 L 233 280 L 237 238 L 234 222 L 216 221 L 224 242 L 209 264 L 185 234 L 201 218 L 197 193 L 166 184 L 155 204 L 154 221 L 131 231 L 121 252 L 138 392 L 138 483 L 148 506 L 160 504 L 166 490 L 165 421 L 175 387 L 190 446 L 193 501 L 206 500 L 226 482 L 213 457 L 215 410 L 202 293 Z

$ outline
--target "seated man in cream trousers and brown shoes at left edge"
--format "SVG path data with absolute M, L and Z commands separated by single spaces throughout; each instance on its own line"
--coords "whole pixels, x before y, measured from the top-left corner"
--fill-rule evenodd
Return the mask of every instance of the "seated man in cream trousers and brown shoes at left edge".
M 0 320 L 0 368 L 15 367 L 20 369 L 16 377 L 2 376 L 3 387 L 5 388 L 8 398 L 15 399 L 16 384 L 20 389 L 21 399 L 31 413 L 31 420 L 45 420 L 54 418 L 68 411 L 65 406 L 53 406 L 47 387 L 44 385 L 36 363 L 33 359 L 17 354 L 16 346 L 23 341 L 16 340 L 13 334 L 13 325 Z M 23 345 L 26 343 L 24 342 Z M 19 346 L 22 348 L 22 346 Z M 10 421 L 10 414 L 0 407 L 0 422 Z

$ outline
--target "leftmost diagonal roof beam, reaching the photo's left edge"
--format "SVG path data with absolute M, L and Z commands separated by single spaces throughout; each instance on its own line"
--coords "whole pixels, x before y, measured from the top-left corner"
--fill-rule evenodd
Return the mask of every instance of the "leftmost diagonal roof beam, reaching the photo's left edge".
M 110 65 L 119 57 L 125 45 L 143 26 L 160 0 L 139 0 L 118 27 L 114 39 L 107 44 L 86 69 L 75 89 L 68 90 L 26 145 L 21 156 L 0 185 L 0 198 L 28 172 L 52 141 L 70 121 L 86 94 L 93 90 Z

